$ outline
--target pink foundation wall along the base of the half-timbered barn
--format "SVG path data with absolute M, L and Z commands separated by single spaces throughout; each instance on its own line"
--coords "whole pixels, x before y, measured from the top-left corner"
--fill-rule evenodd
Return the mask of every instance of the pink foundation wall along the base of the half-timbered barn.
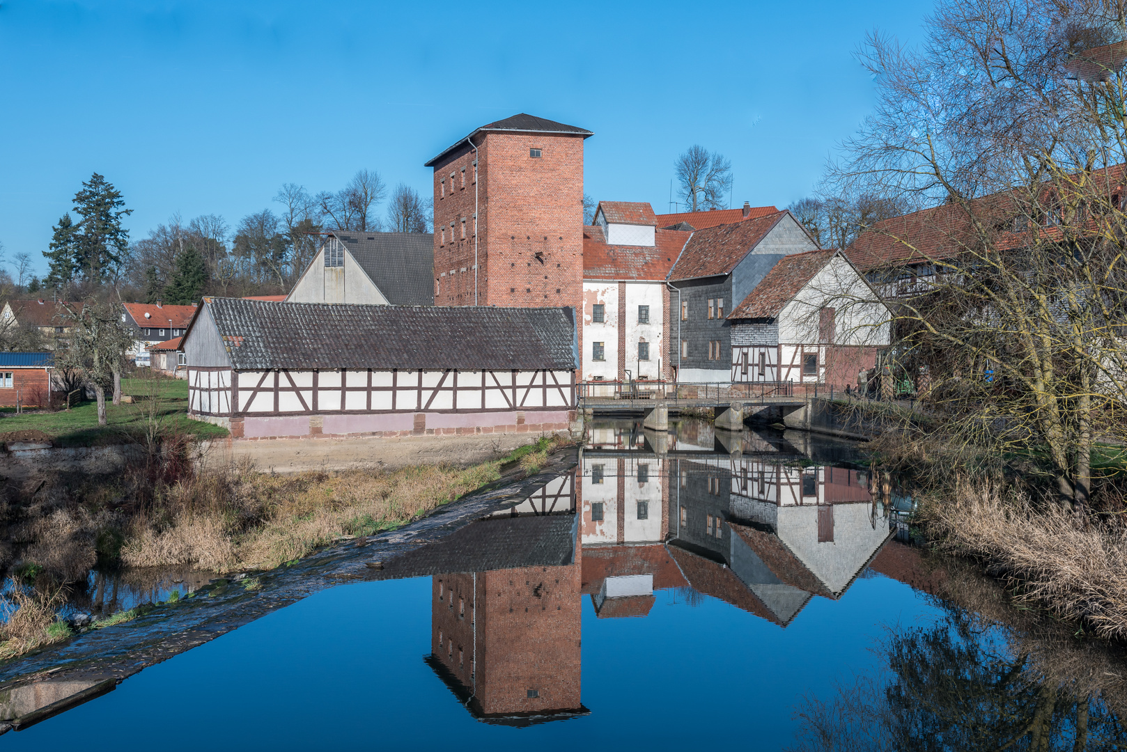
M 234 439 L 332 436 L 465 436 L 567 431 L 574 410 L 506 413 L 383 413 L 371 415 L 242 416 L 231 418 Z

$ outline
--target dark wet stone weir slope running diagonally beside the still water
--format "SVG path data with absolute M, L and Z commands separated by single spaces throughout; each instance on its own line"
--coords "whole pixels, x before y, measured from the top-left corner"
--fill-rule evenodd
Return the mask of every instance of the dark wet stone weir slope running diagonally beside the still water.
M 530 461 L 527 458 L 532 458 Z M 113 628 L 95 625 L 60 644 L 41 643 L 33 653 L 0 664 L 0 699 L 17 698 L 21 688 L 37 697 L 59 696 L 42 701 L 26 717 L 0 722 L 0 733 L 35 723 L 91 696 L 113 689 L 126 676 L 147 666 L 210 642 L 239 626 L 289 605 L 325 587 L 344 582 L 379 578 L 382 563 L 442 540 L 506 506 L 511 506 L 574 467 L 576 450 L 524 454 L 517 465 L 486 488 L 467 494 L 456 503 L 444 504 L 432 514 L 394 530 L 337 541 L 296 561 L 270 570 L 240 572 L 218 578 L 192 593 L 190 598 L 143 605 L 124 613 Z M 542 463 L 542 466 L 538 465 Z M 523 477 L 522 477 L 523 476 Z M 47 649 L 42 649 L 47 648 Z

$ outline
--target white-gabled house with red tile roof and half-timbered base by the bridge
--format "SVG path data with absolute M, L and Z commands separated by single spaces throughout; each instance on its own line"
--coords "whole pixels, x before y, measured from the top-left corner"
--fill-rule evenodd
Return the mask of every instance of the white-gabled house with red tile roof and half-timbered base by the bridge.
M 887 307 L 836 250 L 781 258 L 728 316 L 733 381 L 851 384 L 891 331 Z

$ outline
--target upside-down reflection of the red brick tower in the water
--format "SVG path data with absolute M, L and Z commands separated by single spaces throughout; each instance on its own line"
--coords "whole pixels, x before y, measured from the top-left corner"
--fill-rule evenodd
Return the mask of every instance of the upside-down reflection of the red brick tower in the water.
M 431 663 L 474 715 L 521 725 L 587 713 L 578 556 L 577 541 L 568 566 L 433 577 Z

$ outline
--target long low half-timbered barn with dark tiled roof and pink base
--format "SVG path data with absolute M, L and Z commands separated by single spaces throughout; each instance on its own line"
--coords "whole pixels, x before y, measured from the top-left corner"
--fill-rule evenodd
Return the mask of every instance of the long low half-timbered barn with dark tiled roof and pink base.
M 236 437 L 561 431 L 570 308 L 205 298 L 184 338 L 188 410 Z

